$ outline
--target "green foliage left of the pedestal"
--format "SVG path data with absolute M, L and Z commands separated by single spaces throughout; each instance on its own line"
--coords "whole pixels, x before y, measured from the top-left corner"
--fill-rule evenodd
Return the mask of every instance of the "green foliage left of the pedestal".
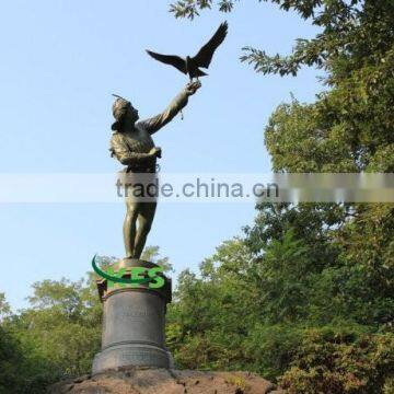
M 88 373 L 100 348 L 102 309 L 93 280 L 36 282 L 28 300 L 31 308 L 0 326 L 4 393 L 44 393 L 49 383 Z

